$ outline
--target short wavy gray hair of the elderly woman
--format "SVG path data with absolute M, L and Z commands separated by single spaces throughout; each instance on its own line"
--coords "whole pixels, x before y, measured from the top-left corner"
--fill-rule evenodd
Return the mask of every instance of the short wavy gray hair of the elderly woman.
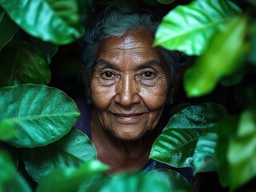
M 152 13 L 125 14 L 120 10 L 108 8 L 100 14 L 95 22 L 87 28 L 83 36 L 83 80 L 90 82 L 91 73 L 94 69 L 100 44 L 106 38 L 120 37 L 131 30 L 147 30 L 148 36 L 154 38 L 160 19 L 153 17 Z M 180 65 L 181 52 L 177 50 L 166 50 L 159 47 L 159 50 L 169 66 L 171 82 L 177 77 L 177 70 Z

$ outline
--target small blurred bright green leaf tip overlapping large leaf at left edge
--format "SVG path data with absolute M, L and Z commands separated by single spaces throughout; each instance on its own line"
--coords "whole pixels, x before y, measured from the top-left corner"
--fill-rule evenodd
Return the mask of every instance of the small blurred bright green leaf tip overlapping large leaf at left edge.
M 18 130 L 15 128 L 13 122 L 6 119 L 0 120 L 0 141 L 6 141 L 17 134 Z

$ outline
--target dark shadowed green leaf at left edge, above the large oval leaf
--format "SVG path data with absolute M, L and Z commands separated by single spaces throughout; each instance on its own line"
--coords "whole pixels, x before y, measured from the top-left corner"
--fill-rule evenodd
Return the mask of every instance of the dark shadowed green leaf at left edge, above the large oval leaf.
M 0 86 L 47 84 L 51 80 L 47 63 L 27 42 L 21 42 L 17 49 L 9 48 L 1 52 L 0 58 Z

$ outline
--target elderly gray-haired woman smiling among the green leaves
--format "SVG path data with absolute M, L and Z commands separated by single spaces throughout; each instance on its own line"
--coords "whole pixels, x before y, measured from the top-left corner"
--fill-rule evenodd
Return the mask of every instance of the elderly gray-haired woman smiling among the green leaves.
M 92 104 L 78 102 L 75 127 L 91 138 L 109 174 L 167 167 L 148 156 L 169 119 L 164 111 L 177 90 L 181 54 L 152 47 L 158 25 L 152 14 L 110 8 L 84 36 L 83 78 Z

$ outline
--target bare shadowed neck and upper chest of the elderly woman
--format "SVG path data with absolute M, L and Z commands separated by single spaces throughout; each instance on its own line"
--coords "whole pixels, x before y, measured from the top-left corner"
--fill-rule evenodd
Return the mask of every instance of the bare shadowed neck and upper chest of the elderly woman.
M 149 133 L 136 141 L 120 140 L 104 130 L 95 109 L 92 110 L 91 138 L 97 158 L 112 167 L 108 174 L 140 170 L 148 162 L 152 143 L 158 134 Z

